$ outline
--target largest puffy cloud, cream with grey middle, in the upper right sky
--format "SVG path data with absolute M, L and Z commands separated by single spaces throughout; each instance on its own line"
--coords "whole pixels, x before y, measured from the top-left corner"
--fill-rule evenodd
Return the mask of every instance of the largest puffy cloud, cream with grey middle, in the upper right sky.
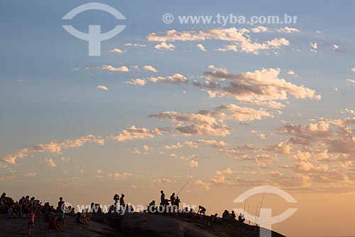
M 278 78 L 280 69 L 263 68 L 253 72 L 229 73 L 226 68 L 215 68 L 204 72 L 204 83 L 195 80 L 192 85 L 207 91 L 210 98 L 234 97 L 238 102 L 251 105 L 265 105 L 273 108 L 283 107 L 277 100 L 288 100 L 288 95 L 295 98 L 320 100 L 315 90 L 304 85 L 295 85 Z

